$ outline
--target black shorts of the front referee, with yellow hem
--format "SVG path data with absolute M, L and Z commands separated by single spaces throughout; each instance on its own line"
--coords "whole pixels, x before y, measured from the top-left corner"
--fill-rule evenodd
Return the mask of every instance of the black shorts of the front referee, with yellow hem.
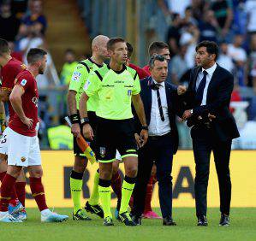
M 114 162 L 116 150 L 123 157 L 138 156 L 134 120 L 106 120 L 98 117 L 95 154 L 98 162 Z

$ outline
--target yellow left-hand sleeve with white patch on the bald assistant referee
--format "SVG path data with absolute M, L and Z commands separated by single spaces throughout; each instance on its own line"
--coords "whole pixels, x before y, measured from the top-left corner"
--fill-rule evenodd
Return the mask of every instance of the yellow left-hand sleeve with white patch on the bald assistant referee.
M 69 90 L 79 92 L 80 88 L 86 82 L 89 73 L 82 64 L 77 64 L 72 74 Z

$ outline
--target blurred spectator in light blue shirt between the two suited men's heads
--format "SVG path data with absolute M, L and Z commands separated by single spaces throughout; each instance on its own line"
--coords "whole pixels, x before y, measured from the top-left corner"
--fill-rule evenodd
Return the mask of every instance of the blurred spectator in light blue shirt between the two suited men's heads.
M 176 85 L 179 84 L 182 75 L 188 70 L 188 62 L 185 55 L 188 50 L 188 45 L 183 44 L 179 49 L 179 53 L 171 59 L 171 79 Z

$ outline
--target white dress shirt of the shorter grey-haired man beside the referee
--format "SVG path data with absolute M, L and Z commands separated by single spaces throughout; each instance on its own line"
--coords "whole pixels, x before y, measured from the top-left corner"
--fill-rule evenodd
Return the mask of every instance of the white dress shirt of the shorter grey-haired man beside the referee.
M 170 120 L 168 115 L 168 105 L 166 99 L 165 85 L 164 82 L 158 83 L 153 79 L 155 84 L 159 85 L 159 94 L 161 98 L 162 109 L 164 113 L 164 121 L 161 120 L 159 108 L 158 108 L 158 97 L 157 91 L 152 90 L 152 110 L 151 119 L 148 126 L 149 136 L 163 136 L 170 132 Z

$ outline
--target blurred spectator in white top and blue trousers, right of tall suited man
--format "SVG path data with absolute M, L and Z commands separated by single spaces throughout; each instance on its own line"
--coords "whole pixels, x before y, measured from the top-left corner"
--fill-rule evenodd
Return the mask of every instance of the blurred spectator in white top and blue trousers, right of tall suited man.
M 245 85 L 245 65 L 247 62 L 247 53 L 241 47 L 243 43 L 243 36 L 241 34 L 235 35 L 234 43 L 228 45 L 228 55 L 235 62 L 235 82 L 240 85 Z

